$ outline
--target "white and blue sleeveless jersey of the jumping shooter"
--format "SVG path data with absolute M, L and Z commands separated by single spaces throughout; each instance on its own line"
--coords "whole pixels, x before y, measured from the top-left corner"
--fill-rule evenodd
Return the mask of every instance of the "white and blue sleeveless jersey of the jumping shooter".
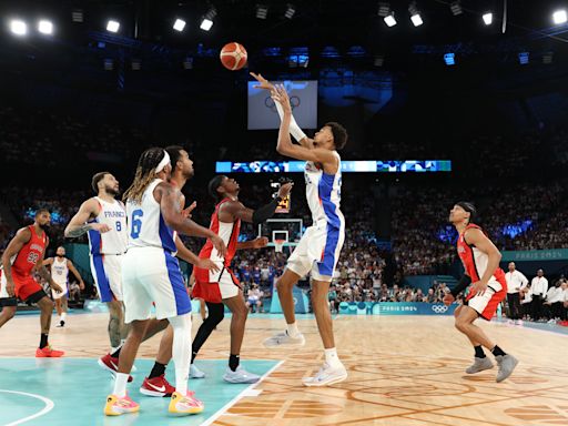
M 329 225 L 339 229 L 345 221 L 339 210 L 342 201 L 342 159 L 336 151 L 333 153 L 338 160 L 335 174 L 327 174 L 312 161 L 308 161 L 304 170 L 304 178 L 313 225 L 325 221 Z

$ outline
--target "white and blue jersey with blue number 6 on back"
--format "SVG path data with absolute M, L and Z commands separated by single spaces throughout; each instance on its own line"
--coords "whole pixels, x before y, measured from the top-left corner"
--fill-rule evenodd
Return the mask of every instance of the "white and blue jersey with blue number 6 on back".
M 148 185 L 142 202 L 126 202 L 129 250 L 133 247 L 161 247 L 175 252 L 174 231 L 165 224 L 160 204 L 154 199 L 154 189 L 164 182 L 155 179 Z

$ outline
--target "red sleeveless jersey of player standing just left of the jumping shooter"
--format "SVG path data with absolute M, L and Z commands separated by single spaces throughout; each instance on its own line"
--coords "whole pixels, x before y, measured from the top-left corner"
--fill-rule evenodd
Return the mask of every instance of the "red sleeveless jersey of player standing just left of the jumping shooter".
M 241 220 L 237 219 L 233 223 L 221 222 L 219 220 L 219 210 L 221 206 L 231 201 L 231 199 L 222 200 L 216 206 L 215 211 L 211 215 L 211 224 L 209 229 L 213 231 L 215 234 L 223 239 L 223 242 L 226 245 L 226 254 L 224 257 L 219 255 L 217 250 L 213 246 L 211 240 L 207 240 L 203 248 L 201 248 L 200 257 L 201 258 L 210 258 L 213 262 L 222 262 L 224 267 L 229 267 L 231 265 L 231 261 L 235 256 L 236 253 L 236 243 L 239 240 L 239 233 L 241 232 Z M 201 267 L 195 267 L 195 280 L 201 282 L 210 282 L 210 275 L 207 270 L 203 270 Z

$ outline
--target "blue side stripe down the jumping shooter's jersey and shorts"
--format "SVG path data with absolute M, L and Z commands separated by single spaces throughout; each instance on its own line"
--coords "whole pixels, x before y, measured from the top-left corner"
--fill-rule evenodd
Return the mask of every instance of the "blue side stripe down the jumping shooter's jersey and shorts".
M 339 242 L 339 230 L 342 221 L 335 209 L 337 206 L 332 202 L 333 183 L 335 181 L 334 174 L 327 174 L 322 172 L 322 179 L 317 184 L 317 192 L 322 200 L 322 206 L 324 213 L 327 216 L 327 237 L 325 240 L 324 258 L 322 262 L 317 262 L 320 274 L 326 276 L 333 276 L 333 270 L 335 266 L 335 250 Z

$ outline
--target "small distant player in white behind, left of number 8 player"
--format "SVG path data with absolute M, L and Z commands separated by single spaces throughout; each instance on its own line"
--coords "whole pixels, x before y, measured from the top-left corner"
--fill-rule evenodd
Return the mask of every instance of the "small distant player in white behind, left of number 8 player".
M 64 327 L 67 320 L 67 302 L 69 298 L 69 271 L 79 280 L 79 288 L 84 290 L 83 278 L 79 271 L 77 271 L 73 262 L 65 257 L 65 247 L 59 246 L 55 251 L 55 257 L 49 257 L 43 261 L 43 266 L 51 268 L 51 277 L 63 290 L 61 293 L 51 291 L 51 296 L 55 302 L 55 311 L 59 315 L 59 325 L 57 327 Z

